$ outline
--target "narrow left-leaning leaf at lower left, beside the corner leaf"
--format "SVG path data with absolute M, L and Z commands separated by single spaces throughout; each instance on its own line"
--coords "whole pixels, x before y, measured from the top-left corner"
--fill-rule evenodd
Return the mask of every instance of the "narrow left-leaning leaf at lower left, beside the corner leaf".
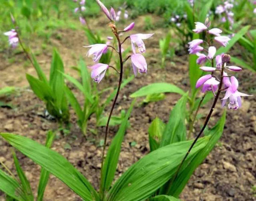
M 17 156 L 16 156 L 15 152 L 13 152 L 12 156 L 13 156 L 13 159 L 14 159 L 14 164 L 15 164 L 15 167 L 16 167 L 16 170 L 17 170 L 17 174 L 20 178 L 20 184 L 21 184 L 22 189 L 24 191 L 24 195 L 26 196 L 26 200 L 27 201 L 34 201 L 34 196 L 33 196 L 29 181 L 27 180 L 25 174 L 23 173 L 23 170 L 20 167 L 20 163 L 17 159 Z

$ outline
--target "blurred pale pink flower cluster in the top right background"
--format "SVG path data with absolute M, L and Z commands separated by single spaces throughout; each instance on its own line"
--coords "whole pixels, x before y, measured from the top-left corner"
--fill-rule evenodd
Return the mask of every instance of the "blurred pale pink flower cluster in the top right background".
M 234 24 L 234 13 L 232 12 L 232 8 L 234 7 L 233 4 L 234 0 L 227 0 L 224 2 L 224 4 L 219 5 L 216 7 L 215 14 L 221 15 L 221 22 L 225 23 L 227 20 L 230 23 L 230 30 L 233 27 Z M 224 16 L 223 16 L 224 15 Z

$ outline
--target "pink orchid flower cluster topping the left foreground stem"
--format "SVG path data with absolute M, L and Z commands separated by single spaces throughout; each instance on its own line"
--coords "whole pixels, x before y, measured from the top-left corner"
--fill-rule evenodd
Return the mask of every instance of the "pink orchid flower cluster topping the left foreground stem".
M 113 48 L 114 51 L 116 51 L 119 54 L 120 57 L 120 62 L 125 62 L 129 58 L 131 58 L 131 64 L 133 67 L 134 74 L 137 75 L 137 72 L 140 74 L 146 73 L 147 72 L 147 63 L 145 58 L 143 57 L 142 53 L 145 52 L 145 44 L 143 40 L 148 39 L 151 37 L 153 34 L 132 34 L 128 37 L 125 38 L 123 42 L 120 41 L 120 33 L 122 32 L 127 32 L 131 31 L 134 28 L 134 22 L 125 27 L 122 31 L 118 31 L 116 28 L 116 12 L 114 8 L 111 7 L 111 10 L 108 11 L 108 9 L 105 7 L 105 5 L 100 2 L 99 0 L 96 0 L 99 6 L 102 8 L 102 11 L 105 13 L 105 15 L 108 17 L 108 19 L 111 21 L 108 26 L 112 28 L 113 34 L 116 36 L 118 40 L 118 48 L 114 48 L 111 45 L 107 44 L 95 44 L 95 45 L 89 45 L 89 46 L 84 46 L 86 48 L 90 48 L 87 56 L 93 56 L 93 61 L 96 62 L 95 65 L 89 67 L 92 69 L 91 72 L 91 78 L 99 83 L 102 78 L 105 76 L 106 71 L 108 70 L 109 67 L 114 68 L 113 66 L 110 66 L 108 64 L 103 64 L 103 63 L 98 63 L 99 59 L 102 57 L 103 54 L 106 54 L 108 51 L 108 48 Z M 112 40 L 112 37 L 109 37 L 110 40 Z M 131 47 L 132 47 L 132 52 L 133 54 L 128 56 L 125 60 L 122 60 L 122 44 L 127 40 L 131 40 Z M 138 46 L 139 53 L 137 53 L 136 46 Z M 114 68 L 115 69 L 115 68 Z M 115 69 L 116 70 L 116 69 Z M 116 70 L 117 71 L 117 70 Z

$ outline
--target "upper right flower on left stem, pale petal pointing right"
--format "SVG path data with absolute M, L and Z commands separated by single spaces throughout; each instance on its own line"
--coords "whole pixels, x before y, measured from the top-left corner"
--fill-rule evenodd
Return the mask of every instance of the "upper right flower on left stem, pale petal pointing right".
M 139 47 L 140 53 L 143 53 L 146 51 L 145 44 L 143 40 L 150 38 L 154 34 L 133 34 L 130 36 L 131 39 L 131 48 L 134 54 L 136 54 L 136 49 L 135 49 L 135 43 Z

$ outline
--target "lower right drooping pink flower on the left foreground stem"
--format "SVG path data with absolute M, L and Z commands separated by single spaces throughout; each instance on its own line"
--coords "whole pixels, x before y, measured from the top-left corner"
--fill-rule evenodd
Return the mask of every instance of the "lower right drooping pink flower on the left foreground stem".
M 132 65 L 135 76 L 137 75 L 138 70 L 139 70 L 139 73 L 147 72 L 147 62 L 142 54 L 131 55 L 131 65 Z

